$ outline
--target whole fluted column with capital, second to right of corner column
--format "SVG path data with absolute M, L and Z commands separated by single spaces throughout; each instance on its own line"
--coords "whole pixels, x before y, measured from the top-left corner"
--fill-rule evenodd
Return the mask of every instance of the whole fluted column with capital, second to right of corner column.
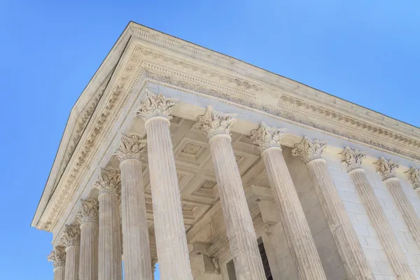
M 261 123 L 258 130 L 253 130 L 251 139 L 261 151 L 299 279 L 326 279 L 311 230 L 281 153 L 280 141 L 285 135 L 281 130 Z

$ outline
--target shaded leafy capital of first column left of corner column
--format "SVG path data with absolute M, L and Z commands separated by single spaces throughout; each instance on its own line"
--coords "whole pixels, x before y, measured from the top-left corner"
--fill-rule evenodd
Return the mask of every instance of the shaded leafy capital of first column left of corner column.
M 120 162 L 130 159 L 141 160 L 141 155 L 146 150 L 146 146 L 146 139 L 139 139 L 137 135 L 133 135 L 132 137 L 122 135 L 121 144 L 116 151 L 116 155 L 120 159 Z

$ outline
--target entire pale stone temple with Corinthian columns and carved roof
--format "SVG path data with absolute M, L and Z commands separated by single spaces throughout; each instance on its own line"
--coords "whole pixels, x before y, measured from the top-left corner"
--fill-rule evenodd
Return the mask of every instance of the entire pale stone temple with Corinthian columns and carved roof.
M 130 22 L 31 225 L 55 280 L 420 279 L 419 162 L 417 127 Z

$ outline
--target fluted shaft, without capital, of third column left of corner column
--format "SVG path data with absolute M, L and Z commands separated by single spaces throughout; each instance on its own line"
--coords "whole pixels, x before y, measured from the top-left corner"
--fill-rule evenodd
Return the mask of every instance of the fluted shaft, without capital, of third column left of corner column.
M 98 279 L 98 223 L 80 225 L 80 280 Z

